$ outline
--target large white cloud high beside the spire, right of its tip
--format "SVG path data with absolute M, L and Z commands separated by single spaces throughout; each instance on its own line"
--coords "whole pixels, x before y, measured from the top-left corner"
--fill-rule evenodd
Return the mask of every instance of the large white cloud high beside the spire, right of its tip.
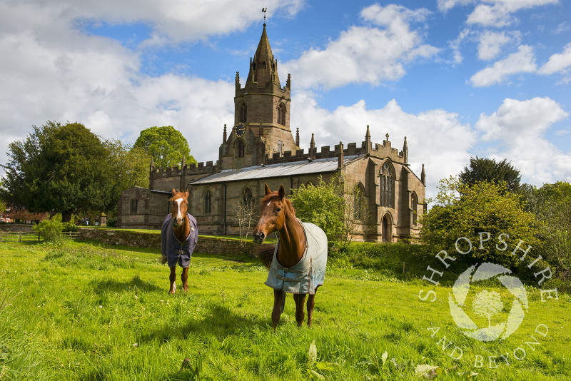
M 361 11 L 365 21 L 382 27 L 352 26 L 325 49 L 310 49 L 299 59 L 281 66 L 295 73 L 295 83 L 304 88 L 335 88 L 348 83 L 394 81 L 405 74 L 404 65 L 418 57 L 434 56 L 438 49 L 422 44 L 418 31 L 408 22 L 423 21 L 425 9 L 403 6 L 369 6 Z

